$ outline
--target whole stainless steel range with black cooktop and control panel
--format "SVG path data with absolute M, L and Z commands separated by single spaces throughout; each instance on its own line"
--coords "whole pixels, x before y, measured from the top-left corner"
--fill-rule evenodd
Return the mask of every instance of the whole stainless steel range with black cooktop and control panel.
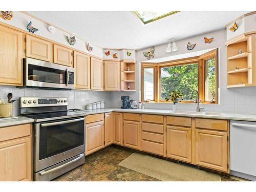
M 84 163 L 86 117 L 67 106 L 67 98 L 20 97 L 20 115 L 35 119 L 35 181 L 50 181 Z

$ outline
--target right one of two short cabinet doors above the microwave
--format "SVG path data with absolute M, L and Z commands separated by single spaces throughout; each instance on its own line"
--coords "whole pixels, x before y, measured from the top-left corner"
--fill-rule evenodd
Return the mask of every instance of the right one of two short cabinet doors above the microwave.
M 63 65 L 73 67 L 72 65 L 72 50 L 59 45 L 53 45 L 53 62 Z

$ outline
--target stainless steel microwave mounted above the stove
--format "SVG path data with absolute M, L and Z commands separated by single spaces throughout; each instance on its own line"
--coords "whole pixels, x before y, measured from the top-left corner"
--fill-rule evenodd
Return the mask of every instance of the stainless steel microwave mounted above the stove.
M 74 68 L 28 57 L 24 58 L 24 87 L 55 90 L 74 89 Z

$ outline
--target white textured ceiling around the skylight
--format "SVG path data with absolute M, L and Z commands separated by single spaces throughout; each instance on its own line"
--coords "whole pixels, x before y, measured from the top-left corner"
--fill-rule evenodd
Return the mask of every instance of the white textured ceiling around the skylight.
M 111 49 L 142 49 L 224 29 L 248 11 L 181 11 L 144 25 L 131 11 L 27 11 L 77 35 Z

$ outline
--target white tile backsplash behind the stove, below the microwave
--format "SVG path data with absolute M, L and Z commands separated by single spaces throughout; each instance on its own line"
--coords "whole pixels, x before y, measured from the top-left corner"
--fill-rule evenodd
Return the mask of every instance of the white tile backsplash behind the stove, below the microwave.
M 87 99 L 89 103 L 105 101 L 105 108 L 111 107 L 111 93 L 100 91 L 62 91 L 62 90 L 40 90 L 40 89 L 19 89 L 13 86 L 0 86 L 0 98 L 7 99 L 7 94 L 12 93 L 16 101 L 13 103 L 13 115 L 19 115 L 19 97 L 67 97 L 68 108 L 86 109 Z

